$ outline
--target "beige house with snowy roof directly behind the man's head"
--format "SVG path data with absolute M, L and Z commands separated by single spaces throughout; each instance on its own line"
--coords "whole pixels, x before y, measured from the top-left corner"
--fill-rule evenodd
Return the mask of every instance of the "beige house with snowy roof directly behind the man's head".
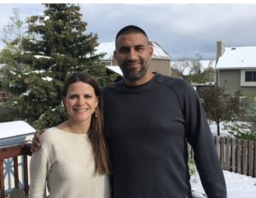
M 151 42 L 154 54 L 150 62 L 149 71 L 159 72 L 166 76 L 171 76 L 171 56 L 166 53 L 166 51 L 160 47 L 157 42 Z M 115 67 L 118 66 L 116 59 L 114 58 L 113 51 L 115 50 L 114 42 L 101 42 L 96 48 L 96 54 L 105 53 L 105 56 L 101 59 L 102 64 L 110 67 L 113 72 L 118 71 Z M 119 74 L 118 72 L 115 72 Z

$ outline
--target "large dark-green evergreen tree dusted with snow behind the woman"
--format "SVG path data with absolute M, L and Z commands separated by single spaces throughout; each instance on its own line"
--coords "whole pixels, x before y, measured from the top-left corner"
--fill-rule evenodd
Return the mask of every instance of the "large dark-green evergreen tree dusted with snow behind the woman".
M 85 33 L 79 5 L 44 4 L 43 15 L 27 19 L 28 35 L 21 50 L 9 51 L 5 82 L 9 82 L 13 104 L 20 119 L 41 129 L 62 122 L 61 86 L 74 71 L 87 71 L 102 86 L 108 81 L 106 68 L 99 63 L 103 54 L 95 54 L 98 37 Z

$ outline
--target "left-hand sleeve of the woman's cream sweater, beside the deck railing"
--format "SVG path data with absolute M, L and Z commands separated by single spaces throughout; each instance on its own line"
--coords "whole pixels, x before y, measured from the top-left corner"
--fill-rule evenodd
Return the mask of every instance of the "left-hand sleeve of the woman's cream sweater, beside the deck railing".
M 30 162 L 29 198 L 46 198 L 46 181 L 49 173 L 49 156 L 42 146 L 32 154 Z

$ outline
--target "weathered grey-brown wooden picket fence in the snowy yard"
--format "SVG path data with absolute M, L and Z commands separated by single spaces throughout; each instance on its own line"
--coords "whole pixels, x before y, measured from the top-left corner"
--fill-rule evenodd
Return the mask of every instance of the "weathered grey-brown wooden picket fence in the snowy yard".
M 223 170 L 256 178 L 256 142 L 219 136 L 213 139 Z M 193 156 L 190 146 L 189 152 Z

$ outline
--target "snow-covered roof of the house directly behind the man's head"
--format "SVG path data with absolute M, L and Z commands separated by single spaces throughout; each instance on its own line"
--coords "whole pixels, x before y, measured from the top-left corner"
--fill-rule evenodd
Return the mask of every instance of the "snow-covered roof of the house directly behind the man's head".
M 166 51 L 160 47 L 157 42 L 151 42 L 153 46 L 153 57 L 152 59 L 171 59 L 171 56 L 166 53 Z M 113 51 L 115 49 L 114 42 L 101 42 L 98 47 L 96 47 L 96 54 L 106 53 L 102 59 L 113 59 Z

